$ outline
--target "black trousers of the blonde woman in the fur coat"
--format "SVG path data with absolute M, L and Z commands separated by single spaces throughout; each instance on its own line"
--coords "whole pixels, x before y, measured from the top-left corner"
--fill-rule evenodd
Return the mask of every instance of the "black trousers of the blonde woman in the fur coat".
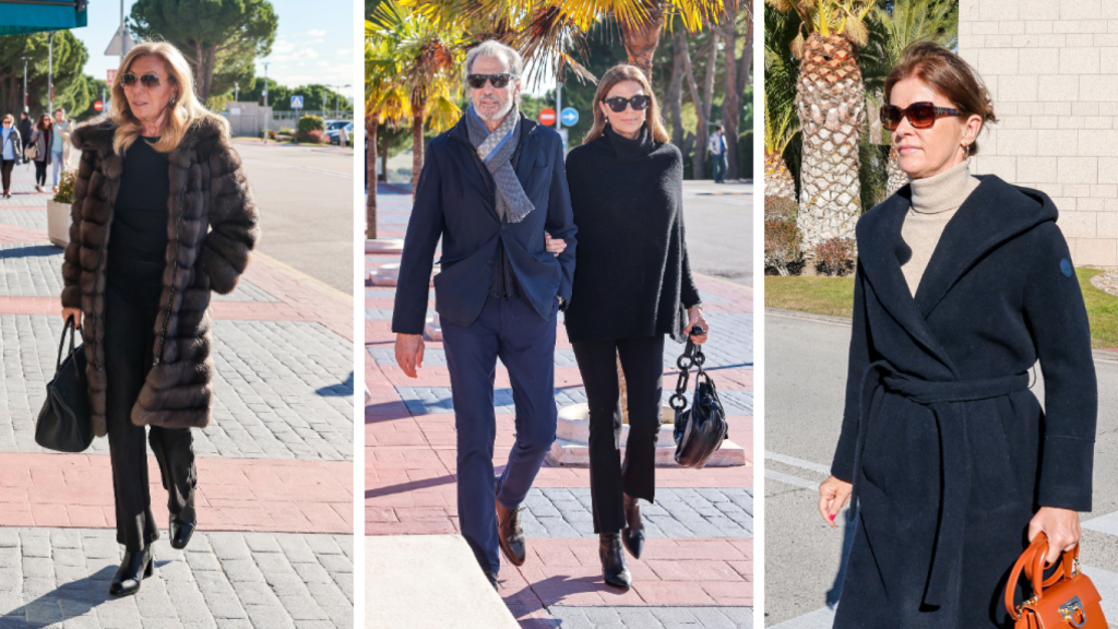
M 36 166 L 45 162 L 36 162 Z M 105 421 L 108 428 L 116 541 L 136 552 L 159 539 L 151 513 L 144 426 L 132 423 L 132 407 L 151 370 L 155 318 L 164 263 L 124 260 L 110 254 L 105 288 Z M 151 426 L 146 441 L 159 462 L 168 509 L 195 522 L 198 471 L 190 429 Z

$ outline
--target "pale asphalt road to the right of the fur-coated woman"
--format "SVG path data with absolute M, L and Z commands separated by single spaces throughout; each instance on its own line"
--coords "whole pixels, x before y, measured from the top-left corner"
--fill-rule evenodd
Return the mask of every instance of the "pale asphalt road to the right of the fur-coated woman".
M 353 294 L 353 153 L 235 141 L 260 209 L 259 251 Z

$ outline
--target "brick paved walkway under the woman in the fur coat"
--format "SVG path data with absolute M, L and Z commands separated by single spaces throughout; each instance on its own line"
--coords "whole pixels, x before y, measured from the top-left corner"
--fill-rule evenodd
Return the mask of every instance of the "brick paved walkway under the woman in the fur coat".
M 155 578 L 111 599 L 122 547 L 108 443 L 61 454 L 34 440 L 63 328 L 63 250 L 32 172 L 18 167 L 0 201 L 0 628 L 352 627 L 352 301 L 266 256 L 215 295 L 214 422 L 192 432 L 199 531 L 186 551 L 164 535 Z

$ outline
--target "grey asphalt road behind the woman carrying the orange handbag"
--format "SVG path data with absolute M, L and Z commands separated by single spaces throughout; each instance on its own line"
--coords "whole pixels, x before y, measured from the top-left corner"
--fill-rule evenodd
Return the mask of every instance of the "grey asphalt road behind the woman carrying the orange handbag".
M 824 524 L 816 487 L 839 440 L 850 327 L 767 312 L 765 332 L 765 626 L 830 627 L 821 610 L 837 597 L 844 528 Z M 1118 355 L 1096 356 L 1095 509 L 1084 523 L 1118 510 Z M 1043 403 L 1043 377 L 1033 392 Z M 1118 573 L 1118 535 L 1087 529 L 1082 544 L 1084 565 Z M 1118 590 L 1092 579 L 1105 601 L 1118 602 Z

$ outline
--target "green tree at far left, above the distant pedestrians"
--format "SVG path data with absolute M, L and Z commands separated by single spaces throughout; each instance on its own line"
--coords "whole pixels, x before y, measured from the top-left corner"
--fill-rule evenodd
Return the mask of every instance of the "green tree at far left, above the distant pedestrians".
M 55 34 L 54 58 L 55 107 L 85 109 L 88 91 L 82 69 L 89 58 L 85 45 L 68 30 Z M 18 114 L 23 111 L 23 62 L 27 63 L 27 92 L 31 114 L 48 109 L 47 34 L 9 35 L 0 37 L 0 111 Z

